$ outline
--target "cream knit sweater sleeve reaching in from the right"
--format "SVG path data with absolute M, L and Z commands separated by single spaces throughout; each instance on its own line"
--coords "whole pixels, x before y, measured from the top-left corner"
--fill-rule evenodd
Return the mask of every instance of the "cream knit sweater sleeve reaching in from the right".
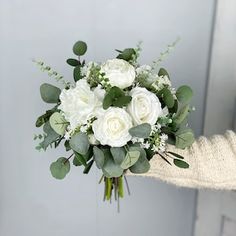
M 211 138 L 200 137 L 185 150 L 169 145 L 168 151 L 184 156 L 189 169 L 170 166 L 156 155 L 150 161 L 149 172 L 140 176 L 190 188 L 236 189 L 236 134 L 233 131 Z

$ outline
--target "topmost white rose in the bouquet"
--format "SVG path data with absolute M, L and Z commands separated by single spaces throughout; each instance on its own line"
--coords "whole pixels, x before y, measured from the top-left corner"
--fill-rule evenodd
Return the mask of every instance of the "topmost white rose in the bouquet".
M 105 73 L 112 86 L 121 89 L 131 86 L 135 79 L 134 67 L 122 59 L 107 60 L 101 65 L 101 72 Z

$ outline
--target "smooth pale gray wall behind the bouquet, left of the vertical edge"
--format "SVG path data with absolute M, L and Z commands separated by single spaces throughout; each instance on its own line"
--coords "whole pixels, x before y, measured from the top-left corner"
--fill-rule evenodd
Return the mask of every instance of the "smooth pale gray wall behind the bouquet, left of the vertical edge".
M 49 164 L 63 150 L 38 153 L 34 122 L 48 106 L 39 86 L 50 79 L 30 59 L 42 58 L 66 78 L 65 59 L 77 39 L 88 42 L 88 60 L 115 55 L 114 48 L 143 40 L 141 62 L 150 63 L 166 44 L 182 38 L 166 59 L 175 85 L 190 84 L 202 130 L 204 92 L 214 0 L 1 0 L 0 1 L 0 235 L 189 236 L 195 191 L 152 179 L 129 178 L 132 195 L 116 206 L 102 202 L 100 173 L 72 168 L 54 180 Z

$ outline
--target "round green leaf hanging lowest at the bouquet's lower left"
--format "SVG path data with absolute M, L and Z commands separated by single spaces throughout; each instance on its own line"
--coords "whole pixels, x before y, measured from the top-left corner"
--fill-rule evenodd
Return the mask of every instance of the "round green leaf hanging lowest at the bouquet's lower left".
M 54 178 L 64 179 L 70 171 L 70 162 L 65 157 L 60 157 L 50 165 L 50 171 Z

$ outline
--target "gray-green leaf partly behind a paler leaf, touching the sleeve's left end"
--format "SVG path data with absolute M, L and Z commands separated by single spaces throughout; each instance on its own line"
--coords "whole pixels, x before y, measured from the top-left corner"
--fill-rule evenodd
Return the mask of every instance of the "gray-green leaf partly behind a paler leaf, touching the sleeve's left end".
M 138 161 L 129 168 L 130 171 L 136 174 L 142 174 L 148 172 L 150 169 L 150 163 L 147 159 L 145 150 L 139 147 L 133 147 L 133 148 L 140 152 L 140 157 Z

